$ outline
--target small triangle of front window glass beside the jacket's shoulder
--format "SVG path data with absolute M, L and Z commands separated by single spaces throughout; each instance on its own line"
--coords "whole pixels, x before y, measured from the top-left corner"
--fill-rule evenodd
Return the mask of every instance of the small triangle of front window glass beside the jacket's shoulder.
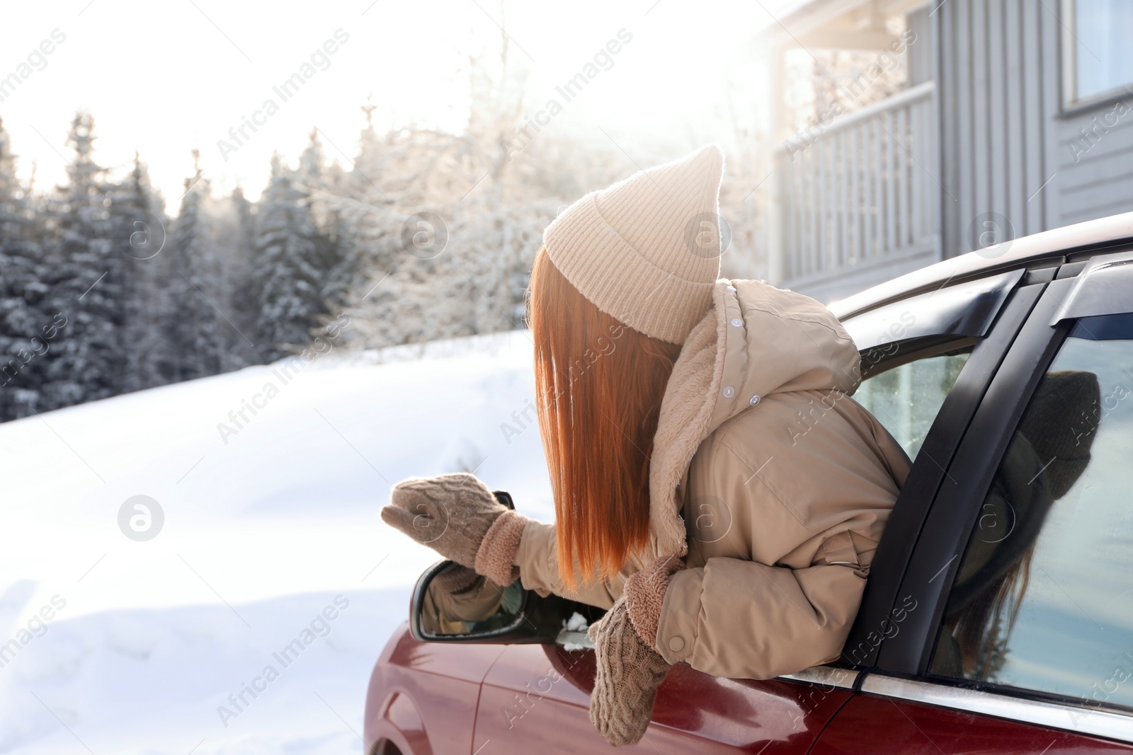
M 909 458 L 917 458 L 925 436 L 956 381 L 968 353 L 939 354 L 867 378 L 854 400 L 885 426 Z

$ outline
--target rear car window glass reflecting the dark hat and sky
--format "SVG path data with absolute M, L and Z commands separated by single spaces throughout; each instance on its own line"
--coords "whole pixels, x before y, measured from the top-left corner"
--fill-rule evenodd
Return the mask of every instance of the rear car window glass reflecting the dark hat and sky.
M 1133 706 L 1133 316 L 1071 331 L 1004 455 L 931 670 Z

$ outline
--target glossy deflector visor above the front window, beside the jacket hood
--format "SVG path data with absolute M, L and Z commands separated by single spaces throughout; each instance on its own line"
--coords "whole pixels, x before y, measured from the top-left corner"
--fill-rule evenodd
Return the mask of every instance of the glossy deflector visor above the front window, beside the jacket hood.
M 1022 268 L 895 301 L 843 325 L 858 351 L 922 336 L 982 337 L 1023 277 Z

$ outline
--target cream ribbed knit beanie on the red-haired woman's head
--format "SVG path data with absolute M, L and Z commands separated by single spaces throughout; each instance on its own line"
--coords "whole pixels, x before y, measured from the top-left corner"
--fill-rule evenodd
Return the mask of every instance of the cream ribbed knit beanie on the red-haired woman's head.
M 543 233 L 555 267 L 634 331 L 684 343 L 719 275 L 724 154 L 708 145 L 593 191 Z

